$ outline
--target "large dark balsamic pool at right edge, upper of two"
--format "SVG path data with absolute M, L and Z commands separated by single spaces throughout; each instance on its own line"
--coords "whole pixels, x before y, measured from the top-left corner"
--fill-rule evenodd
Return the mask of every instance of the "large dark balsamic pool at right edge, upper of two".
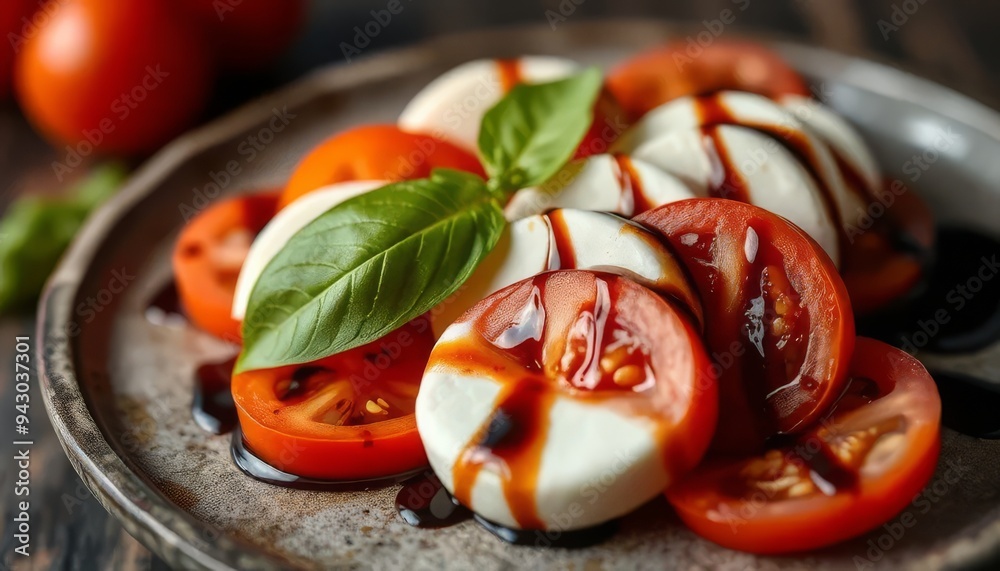
M 1000 242 L 941 228 L 916 297 L 859 319 L 859 335 L 910 353 L 969 353 L 1000 341 Z

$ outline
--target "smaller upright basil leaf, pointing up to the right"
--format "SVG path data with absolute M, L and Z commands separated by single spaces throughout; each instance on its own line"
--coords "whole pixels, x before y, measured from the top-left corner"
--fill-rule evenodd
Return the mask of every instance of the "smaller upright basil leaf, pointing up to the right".
M 573 156 L 593 121 L 601 72 L 517 85 L 483 117 L 479 154 L 501 190 L 542 184 Z

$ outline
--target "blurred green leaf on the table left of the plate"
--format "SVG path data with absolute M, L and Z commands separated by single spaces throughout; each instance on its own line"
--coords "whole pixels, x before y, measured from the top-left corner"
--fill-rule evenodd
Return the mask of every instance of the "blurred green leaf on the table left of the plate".
M 109 163 L 92 170 L 60 198 L 24 196 L 0 219 L 0 314 L 32 311 L 87 216 L 115 193 L 127 170 Z

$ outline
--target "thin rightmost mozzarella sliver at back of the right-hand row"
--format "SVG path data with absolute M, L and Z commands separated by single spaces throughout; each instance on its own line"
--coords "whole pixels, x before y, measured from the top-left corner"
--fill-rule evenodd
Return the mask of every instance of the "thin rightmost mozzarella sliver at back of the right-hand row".
M 819 101 L 802 95 L 786 95 L 781 98 L 781 104 L 826 142 L 838 158 L 846 161 L 868 188 L 882 186 L 882 173 L 875 156 L 861 135 L 843 117 Z

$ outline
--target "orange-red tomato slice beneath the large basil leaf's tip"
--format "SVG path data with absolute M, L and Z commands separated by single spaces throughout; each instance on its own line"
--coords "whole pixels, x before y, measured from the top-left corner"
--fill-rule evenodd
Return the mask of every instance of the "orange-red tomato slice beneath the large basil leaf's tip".
M 425 466 L 413 409 L 433 346 L 422 316 L 313 363 L 234 375 L 247 446 L 280 470 L 315 479 L 381 478 Z

